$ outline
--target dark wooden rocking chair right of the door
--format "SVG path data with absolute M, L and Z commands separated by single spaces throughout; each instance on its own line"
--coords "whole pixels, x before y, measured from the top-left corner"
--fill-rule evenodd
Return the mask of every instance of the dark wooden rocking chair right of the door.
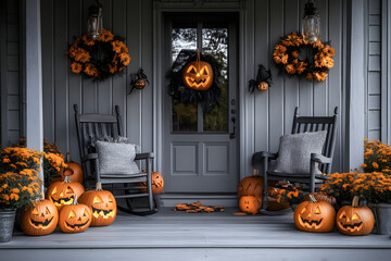
M 301 183 L 310 187 L 310 192 L 315 191 L 315 187 L 321 185 L 327 175 L 315 174 L 316 165 L 319 164 L 319 171 L 323 174 L 330 174 L 333 151 L 336 147 L 336 130 L 338 123 L 338 107 L 335 108 L 332 116 L 299 116 L 299 108 L 294 109 L 292 134 L 305 132 L 327 130 L 326 141 L 323 153 L 311 153 L 310 174 L 302 173 L 280 173 L 268 170 L 269 161 L 277 160 L 278 153 L 260 151 L 253 154 L 253 166 L 260 170 L 263 175 L 263 197 L 261 213 L 270 214 L 266 211 L 267 206 L 267 182 L 268 181 L 287 181 L 290 183 Z

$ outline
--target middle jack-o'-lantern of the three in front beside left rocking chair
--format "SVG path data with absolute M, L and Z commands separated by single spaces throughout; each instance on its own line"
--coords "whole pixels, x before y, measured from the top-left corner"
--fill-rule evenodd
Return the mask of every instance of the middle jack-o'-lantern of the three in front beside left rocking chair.
M 77 203 L 77 195 L 73 204 L 64 206 L 60 211 L 59 227 L 63 233 L 85 232 L 91 224 L 92 211 L 87 204 Z

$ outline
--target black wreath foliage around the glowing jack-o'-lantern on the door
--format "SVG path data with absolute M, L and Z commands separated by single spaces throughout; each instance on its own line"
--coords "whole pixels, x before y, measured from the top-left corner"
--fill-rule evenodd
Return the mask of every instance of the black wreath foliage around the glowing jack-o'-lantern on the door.
M 219 105 L 218 100 L 222 94 L 222 87 L 218 82 L 220 76 L 220 65 L 212 55 L 201 54 L 201 61 L 207 62 L 212 66 L 214 75 L 213 84 L 207 90 L 192 90 L 184 85 L 182 71 L 188 63 L 195 60 L 195 50 L 180 50 L 177 59 L 166 75 L 169 80 L 168 95 L 172 96 L 174 100 L 182 103 L 201 102 L 203 112 L 209 113 L 215 105 Z

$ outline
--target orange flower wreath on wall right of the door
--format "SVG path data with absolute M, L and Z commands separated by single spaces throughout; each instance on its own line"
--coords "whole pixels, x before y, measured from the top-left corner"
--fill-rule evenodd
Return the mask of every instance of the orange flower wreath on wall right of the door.
M 304 51 L 307 55 L 301 59 L 300 54 Z M 335 54 L 336 50 L 329 45 L 320 40 L 310 42 L 293 32 L 276 45 L 273 60 L 277 67 L 289 75 L 324 82 L 328 76 L 328 71 L 333 66 Z

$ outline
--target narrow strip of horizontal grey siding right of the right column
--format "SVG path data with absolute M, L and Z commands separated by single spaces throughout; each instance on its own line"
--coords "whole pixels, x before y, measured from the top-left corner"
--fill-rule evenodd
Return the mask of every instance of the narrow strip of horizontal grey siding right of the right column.
M 365 136 L 381 139 L 381 0 L 367 1 Z

